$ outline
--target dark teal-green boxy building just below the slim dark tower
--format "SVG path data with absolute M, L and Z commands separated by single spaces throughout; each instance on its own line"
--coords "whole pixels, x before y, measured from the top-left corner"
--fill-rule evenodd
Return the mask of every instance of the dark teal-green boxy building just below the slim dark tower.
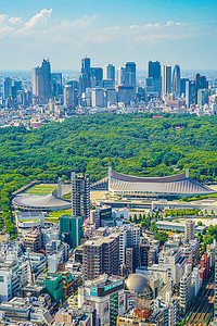
M 82 217 L 80 215 L 61 215 L 59 224 L 61 240 L 71 248 L 79 246 L 82 237 Z

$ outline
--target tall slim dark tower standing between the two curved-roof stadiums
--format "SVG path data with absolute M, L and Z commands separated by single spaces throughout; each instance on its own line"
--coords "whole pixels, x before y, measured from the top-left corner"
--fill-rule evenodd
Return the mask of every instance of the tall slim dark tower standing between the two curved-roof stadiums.
M 72 173 L 72 215 L 90 217 L 90 181 L 89 174 Z

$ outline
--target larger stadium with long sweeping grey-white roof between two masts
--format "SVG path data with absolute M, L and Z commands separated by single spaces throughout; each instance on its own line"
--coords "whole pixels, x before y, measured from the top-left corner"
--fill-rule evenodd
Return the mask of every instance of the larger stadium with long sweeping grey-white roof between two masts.
M 165 177 L 137 177 L 112 171 L 108 177 L 92 185 L 91 190 L 108 190 L 123 197 L 192 197 L 212 195 L 215 191 L 189 177 L 189 170 Z

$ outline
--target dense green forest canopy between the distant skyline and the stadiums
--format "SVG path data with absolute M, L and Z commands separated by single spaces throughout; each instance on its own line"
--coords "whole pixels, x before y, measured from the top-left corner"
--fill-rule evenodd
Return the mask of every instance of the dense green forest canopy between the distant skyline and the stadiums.
M 194 179 L 217 180 L 216 135 L 217 116 L 207 115 L 153 118 L 106 113 L 48 123 L 35 130 L 0 128 L 0 204 L 34 178 L 66 179 L 75 171 L 89 173 L 95 181 L 110 165 L 139 176 L 164 176 L 189 167 Z

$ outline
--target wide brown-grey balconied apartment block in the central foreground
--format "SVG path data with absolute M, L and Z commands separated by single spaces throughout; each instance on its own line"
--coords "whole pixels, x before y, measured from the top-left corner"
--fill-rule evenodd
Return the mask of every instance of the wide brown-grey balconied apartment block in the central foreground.
M 117 275 L 119 272 L 119 234 L 88 240 L 84 243 L 84 277 L 94 279 L 102 274 Z

